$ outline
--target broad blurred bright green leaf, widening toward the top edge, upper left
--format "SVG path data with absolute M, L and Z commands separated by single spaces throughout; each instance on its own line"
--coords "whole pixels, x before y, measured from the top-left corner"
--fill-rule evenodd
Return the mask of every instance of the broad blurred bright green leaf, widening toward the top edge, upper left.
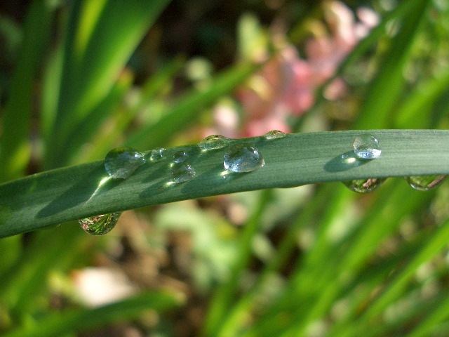
M 131 53 L 168 3 L 74 1 L 65 39 L 53 146 L 47 152 L 48 167 L 67 161 L 69 153 L 61 144 L 107 96 Z

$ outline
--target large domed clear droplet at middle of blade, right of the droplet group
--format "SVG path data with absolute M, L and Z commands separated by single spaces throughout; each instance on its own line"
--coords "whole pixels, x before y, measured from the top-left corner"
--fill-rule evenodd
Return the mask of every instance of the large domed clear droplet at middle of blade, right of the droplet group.
M 264 164 L 264 158 L 259 150 L 245 143 L 233 145 L 226 152 L 223 161 L 225 169 L 237 173 L 256 171 Z

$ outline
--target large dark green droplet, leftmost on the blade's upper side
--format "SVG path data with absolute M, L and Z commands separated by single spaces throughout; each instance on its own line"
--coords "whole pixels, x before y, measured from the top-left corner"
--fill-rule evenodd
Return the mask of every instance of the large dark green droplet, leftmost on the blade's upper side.
M 142 152 L 131 147 L 117 147 L 107 153 L 105 169 L 111 178 L 126 179 L 145 162 Z

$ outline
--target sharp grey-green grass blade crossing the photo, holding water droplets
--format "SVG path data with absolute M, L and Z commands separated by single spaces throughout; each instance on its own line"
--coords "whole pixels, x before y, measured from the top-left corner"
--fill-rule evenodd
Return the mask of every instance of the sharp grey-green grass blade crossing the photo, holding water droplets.
M 298 133 L 275 141 L 246 138 L 264 155 L 265 166 L 253 173 L 223 179 L 225 149 L 189 154 L 196 178 L 173 185 L 169 161 L 146 164 L 127 180 L 109 180 L 102 161 L 48 171 L 0 185 L 0 237 L 57 225 L 86 216 L 152 206 L 217 194 L 293 187 L 358 178 L 419 176 L 449 173 L 449 131 L 377 130 L 379 159 L 351 164 L 350 153 L 360 131 Z M 236 140 L 240 142 L 242 140 Z M 167 157 L 180 150 L 167 150 Z

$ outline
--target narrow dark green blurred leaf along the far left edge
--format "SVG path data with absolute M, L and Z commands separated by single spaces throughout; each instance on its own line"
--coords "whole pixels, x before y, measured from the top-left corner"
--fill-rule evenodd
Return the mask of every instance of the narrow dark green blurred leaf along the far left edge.
M 31 155 L 34 85 L 50 36 L 52 12 L 53 8 L 46 1 L 35 0 L 25 19 L 24 37 L 1 121 L 0 182 L 23 176 Z

